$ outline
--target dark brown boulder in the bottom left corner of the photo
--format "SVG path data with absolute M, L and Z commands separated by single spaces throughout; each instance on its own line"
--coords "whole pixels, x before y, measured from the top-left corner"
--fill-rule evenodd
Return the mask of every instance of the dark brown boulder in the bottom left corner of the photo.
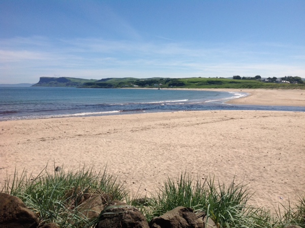
M 37 215 L 27 209 L 20 198 L 0 193 L 1 228 L 36 228 L 38 224 Z

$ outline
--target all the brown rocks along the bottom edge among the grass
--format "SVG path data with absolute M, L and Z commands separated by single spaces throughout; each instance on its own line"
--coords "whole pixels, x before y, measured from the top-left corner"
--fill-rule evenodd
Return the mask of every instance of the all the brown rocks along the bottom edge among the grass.
M 149 223 L 135 207 L 112 201 L 104 208 L 101 196 L 90 198 L 80 206 L 80 212 L 88 219 L 98 219 L 95 228 L 205 228 L 217 227 L 205 212 L 177 207 L 153 218 Z M 0 193 L 0 227 L 2 228 L 59 228 L 56 223 L 44 223 L 37 214 L 26 208 L 20 198 Z M 285 228 L 301 228 L 297 225 Z

